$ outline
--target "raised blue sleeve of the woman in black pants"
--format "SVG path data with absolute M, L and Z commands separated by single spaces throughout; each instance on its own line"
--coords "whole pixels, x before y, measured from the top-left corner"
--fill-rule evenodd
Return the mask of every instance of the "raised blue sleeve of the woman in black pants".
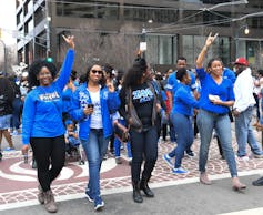
M 71 70 L 72 70 L 72 66 L 73 66 L 73 62 L 74 62 L 74 50 L 69 49 L 69 51 L 67 52 L 67 55 L 64 58 L 64 62 L 63 62 L 63 65 L 61 68 L 60 75 L 57 80 L 57 84 L 61 90 L 63 90 L 64 85 L 69 81 Z

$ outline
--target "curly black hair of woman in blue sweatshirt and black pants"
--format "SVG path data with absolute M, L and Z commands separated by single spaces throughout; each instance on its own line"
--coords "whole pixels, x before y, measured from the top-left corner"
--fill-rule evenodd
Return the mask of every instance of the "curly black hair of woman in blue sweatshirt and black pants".
M 40 85 L 39 80 L 37 79 L 37 75 L 42 70 L 42 68 L 48 68 L 48 70 L 50 71 L 52 75 L 52 79 L 54 80 L 58 73 L 58 70 L 54 63 L 48 62 L 45 60 L 37 60 L 29 68 L 28 82 L 29 82 L 30 88 Z

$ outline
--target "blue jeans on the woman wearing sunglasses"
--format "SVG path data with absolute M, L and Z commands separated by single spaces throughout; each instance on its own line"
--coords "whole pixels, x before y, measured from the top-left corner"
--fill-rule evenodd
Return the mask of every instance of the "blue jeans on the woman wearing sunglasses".
M 95 199 L 100 197 L 100 168 L 105 155 L 109 139 L 103 137 L 103 130 L 90 130 L 89 141 L 81 140 L 87 160 L 89 162 L 89 182 L 87 192 Z

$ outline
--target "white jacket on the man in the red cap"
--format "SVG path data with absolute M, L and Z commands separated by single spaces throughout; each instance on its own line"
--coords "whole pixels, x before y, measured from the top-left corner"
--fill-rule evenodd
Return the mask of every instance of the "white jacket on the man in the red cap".
M 236 78 L 236 81 L 234 83 L 234 109 L 236 109 L 239 112 L 243 112 L 249 106 L 253 106 L 255 104 L 255 99 L 253 96 L 253 88 L 254 82 L 251 75 L 251 69 L 246 68 Z

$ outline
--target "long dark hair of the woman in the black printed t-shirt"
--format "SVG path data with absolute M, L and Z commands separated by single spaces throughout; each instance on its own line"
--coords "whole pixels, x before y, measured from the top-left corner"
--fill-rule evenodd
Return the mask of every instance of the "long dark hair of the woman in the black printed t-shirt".
M 148 63 L 145 59 L 136 58 L 132 68 L 130 68 L 124 76 L 123 86 L 129 88 L 132 85 L 138 85 L 142 80 L 143 73 L 148 69 Z

